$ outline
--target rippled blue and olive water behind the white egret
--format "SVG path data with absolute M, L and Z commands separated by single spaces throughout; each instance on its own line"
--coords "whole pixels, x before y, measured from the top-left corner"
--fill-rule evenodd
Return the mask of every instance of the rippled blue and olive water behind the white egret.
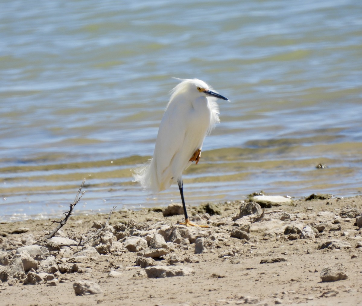
M 228 97 L 186 203 L 362 190 L 361 1 L 0 4 L 2 220 L 167 205 L 130 169 L 177 83 Z M 328 167 L 317 169 L 319 163 Z

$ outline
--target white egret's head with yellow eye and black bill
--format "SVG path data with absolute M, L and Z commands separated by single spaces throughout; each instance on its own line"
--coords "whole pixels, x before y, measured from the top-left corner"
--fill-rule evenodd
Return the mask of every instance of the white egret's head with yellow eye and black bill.
M 177 79 L 177 80 L 182 80 L 182 82 L 173 89 L 172 91 L 173 95 L 184 92 L 189 96 L 194 96 L 195 98 L 201 96 L 210 96 L 229 101 L 228 98 L 218 94 L 217 92 L 212 90 L 212 88 L 209 85 L 207 85 L 205 82 L 201 80 L 198 80 L 197 78 L 193 80 L 188 80 L 188 79 Z

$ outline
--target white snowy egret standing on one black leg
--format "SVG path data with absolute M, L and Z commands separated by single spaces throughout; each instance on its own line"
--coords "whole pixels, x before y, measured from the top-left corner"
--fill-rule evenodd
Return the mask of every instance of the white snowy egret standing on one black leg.
M 181 224 L 199 226 L 187 216 L 182 171 L 193 161 L 197 165 L 205 136 L 220 122 L 216 99 L 229 100 L 201 80 L 179 80 L 162 117 L 153 157 L 135 169 L 134 178 L 155 193 L 177 182 L 185 214 L 185 223 Z

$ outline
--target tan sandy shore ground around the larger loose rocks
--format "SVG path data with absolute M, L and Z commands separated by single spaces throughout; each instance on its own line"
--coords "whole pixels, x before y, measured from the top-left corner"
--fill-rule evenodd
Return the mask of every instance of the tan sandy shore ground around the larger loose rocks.
M 262 216 L 233 221 L 241 203 L 218 204 L 220 214 L 196 214 L 195 222 L 207 223 L 209 229 L 176 225 L 183 216 L 164 217 L 162 209 L 115 211 L 106 227 L 112 242 L 106 254 L 77 259 L 73 254 L 87 246 L 52 249 L 49 256 L 58 268 L 62 263 L 76 264 L 77 271 L 56 272 L 52 285 L 45 280 L 34 285 L 25 285 L 24 279 L 0 282 L 0 304 L 362 305 L 362 230 L 355 217 L 343 214 L 348 208 L 362 209 L 362 197 L 294 200 L 293 205 L 266 208 Z M 104 224 L 107 217 L 108 214 L 72 216 L 57 236 L 79 241 Z M 4 257 L 11 262 L 18 247 L 39 244 L 49 233 L 45 228 L 50 221 L 0 224 L 0 271 L 9 266 Z M 302 239 L 300 230 L 306 226 L 313 229 L 313 234 Z M 165 232 L 175 229 L 185 237 L 179 235 L 178 240 L 167 241 L 172 238 Z M 143 251 L 127 250 L 127 237 L 143 237 L 150 244 L 157 233 L 167 236 L 167 251 L 153 260 L 149 258 L 152 263 L 148 264 L 187 268 L 192 271 L 190 275 L 148 277 L 146 269 L 136 264 Z M 337 248 L 321 246 L 333 239 L 343 243 L 342 247 L 338 248 L 338 243 Z M 336 263 L 343 265 L 348 278 L 321 282 L 322 269 Z M 110 277 L 110 271 L 118 273 Z M 102 293 L 77 296 L 73 289 L 77 280 L 99 285 Z

